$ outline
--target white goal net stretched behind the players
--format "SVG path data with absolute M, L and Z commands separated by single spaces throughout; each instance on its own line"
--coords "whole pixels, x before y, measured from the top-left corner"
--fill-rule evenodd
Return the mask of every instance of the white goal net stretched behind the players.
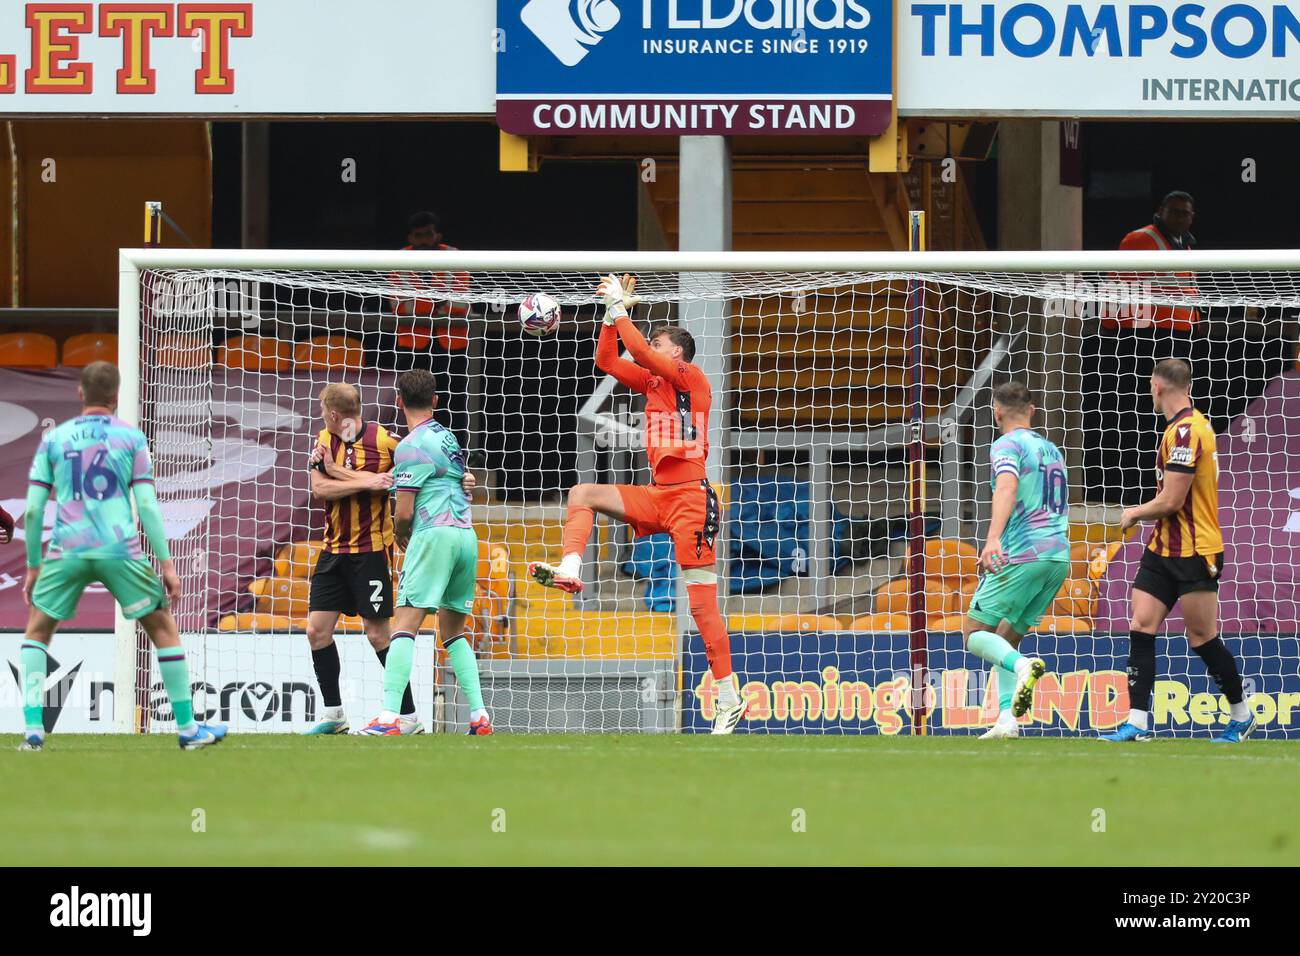
M 1178 272 L 1170 264 L 1178 261 Z M 124 416 L 155 454 L 183 583 L 196 705 L 237 731 L 298 731 L 322 702 L 306 637 L 324 507 L 308 455 L 330 382 L 399 437 L 395 381 L 439 378 L 436 416 L 478 481 L 469 637 L 498 730 L 705 731 L 716 685 L 667 535 L 598 518 L 585 589 L 558 562 L 576 484 L 647 484 L 644 398 L 593 363 L 604 272 L 638 277 L 634 320 L 689 330 L 708 377 L 719 600 L 742 732 L 958 732 L 997 693 L 962 649 L 992 506 L 991 392 L 1031 389 L 1065 453 L 1070 576 L 1022 649 L 1045 658 L 1027 732 L 1127 715 L 1131 583 L 1154 494 L 1154 362 L 1192 367 L 1217 432 L 1227 559 L 1219 627 L 1265 735 L 1300 734 L 1300 256 L 1291 254 L 124 254 Z M 559 329 L 524 334 L 547 293 Z M 915 555 L 915 557 L 913 557 Z M 394 555 L 394 570 L 400 554 Z M 433 618 L 412 689 L 432 730 L 467 705 Z M 1158 643 L 1160 732 L 1205 734 L 1222 697 L 1178 611 Z M 350 719 L 382 667 L 341 619 Z M 121 728 L 168 726 L 151 656 L 118 626 Z M 129 693 L 124 693 L 129 691 Z

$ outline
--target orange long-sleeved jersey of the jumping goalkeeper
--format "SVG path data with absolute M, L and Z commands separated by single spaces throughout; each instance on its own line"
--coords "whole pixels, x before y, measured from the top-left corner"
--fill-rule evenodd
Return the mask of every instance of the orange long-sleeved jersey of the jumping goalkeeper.
M 619 356 L 620 337 L 634 362 Z M 595 367 L 646 397 L 646 458 L 654 484 L 703 479 L 714 398 L 699 367 L 656 352 L 628 317 L 601 328 Z

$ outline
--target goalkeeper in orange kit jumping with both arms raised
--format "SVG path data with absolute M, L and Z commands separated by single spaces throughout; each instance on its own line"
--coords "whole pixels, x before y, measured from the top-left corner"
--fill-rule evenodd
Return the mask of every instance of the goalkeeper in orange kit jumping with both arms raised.
M 731 637 L 718 609 L 718 494 L 708 484 L 708 411 L 712 393 L 692 360 L 696 342 L 676 325 L 660 325 L 647 342 L 628 310 L 640 299 L 636 278 L 606 276 L 597 289 L 606 306 L 595 346 L 595 365 L 646 397 L 646 457 L 650 486 L 576 485 L 569 489 L 564 519 L 564 557 L 559 566 L 533 562 L 528 572 L 545 587 L 571 593 L 582 589 L 582 551 L 595 512 L 627 522 L 637 537 L 668 532 L 686 584 L 690 614 L 705 641 L 708 669 L 718 687 L 714 734 L 731 734 L 745 715 L 732 676 Z M 619 358 L 619 339 L 633 360 Z

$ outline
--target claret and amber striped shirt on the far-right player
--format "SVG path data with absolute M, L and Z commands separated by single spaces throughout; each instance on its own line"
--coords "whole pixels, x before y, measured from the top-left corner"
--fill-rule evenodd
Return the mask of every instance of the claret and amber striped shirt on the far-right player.
M 1213 555 L 1223 550 L 1218 523 L 1218 460 L 1214 429 L 1196 408 L 1183 408 L 1165 427 L 1156 453 L 1156 490 L 1164 490 L 1165 475 L 1192 475 L 1183 507 L 1156 522 L 1147 548 L 1165 558 Z

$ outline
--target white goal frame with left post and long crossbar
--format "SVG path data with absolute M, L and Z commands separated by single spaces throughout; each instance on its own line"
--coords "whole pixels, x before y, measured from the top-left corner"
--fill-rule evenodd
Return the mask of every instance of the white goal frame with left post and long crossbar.
M 1300 250 L 1171 251 L 902 251 L 902 252 L 536 252 L 536 251 L 369 251 L 369 250 L 166 250 L 122 248 L 118 268 L 118 415 L 140 421 L 140 277 L 150 269 L 312 269 L 430 272 L 898 272 L 898 273 L 1070 273 L 1113 269 L 1141 272 L 1300 272 Z M 919 356 L 915 356 L 919 362 Z M 909 362 L 913 367 L 913 362 Z M 916 428 L 924 423 L 909 421 Z M 922 479 L 922 483 L 924 479 Z M 924 507 L 924 490 L 909 496 Z M 913 523 L 915 524 L 915 523 Z M 920 588 L 924 583 L 920 581 Z M 913 581 L 913 602 L 923 600 Z M 139 685 L 136 628 L 114 605 L 114 730 L 147 728 L 147 687 Z M 679 637 L 680 640 L 680 637 Z M 916 645 L 916 641 L 920 645 Z M 924 632 L 913 627 L 914 667 L 926 666 Z M 679 648 L 680 658 L 680 648 Z M 914 727 L 915 730 L 915 727 Z

